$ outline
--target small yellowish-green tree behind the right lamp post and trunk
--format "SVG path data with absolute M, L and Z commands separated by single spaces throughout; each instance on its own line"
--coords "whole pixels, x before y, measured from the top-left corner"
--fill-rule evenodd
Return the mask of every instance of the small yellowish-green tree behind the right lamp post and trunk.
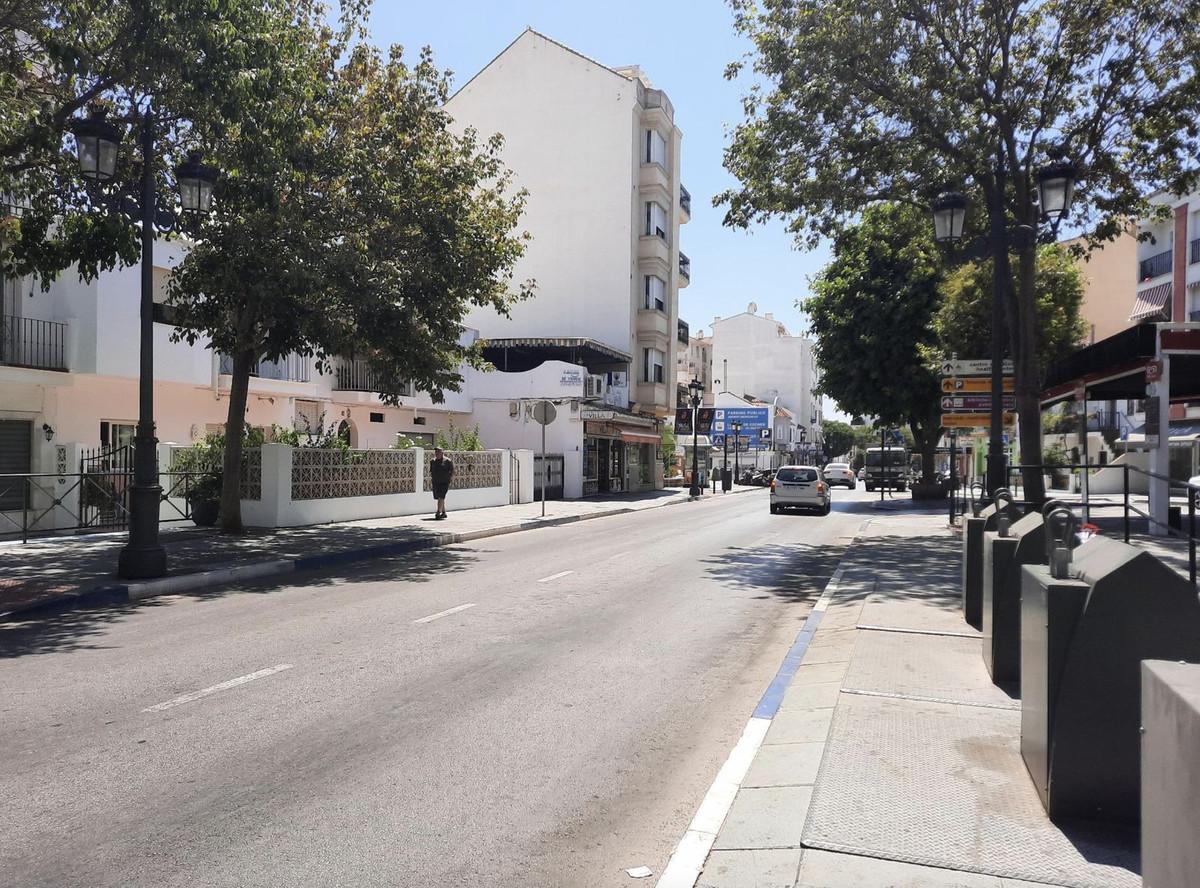
M 991 358 L 991 262 L 968 263 L 950 271 L 942 283 L 942 306 L 934 318 L 943 354 Z M 1037 341 L 1040 372 L 1079 348 L 1085 335 L 1080 308 L 1084 281 L 1074 257 L 1048 244 L 1038 250 L 1034 281 Z

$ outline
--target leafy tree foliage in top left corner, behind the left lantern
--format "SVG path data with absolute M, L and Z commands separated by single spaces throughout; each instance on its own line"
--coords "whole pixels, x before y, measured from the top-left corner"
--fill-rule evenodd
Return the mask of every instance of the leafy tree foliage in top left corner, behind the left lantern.
M 120 122 L 151 102 L 160 173 L 194 127 L 229 112 L 264 23 L 289 0 L 0 0 L 0 274 L 44 286 L 138 260 L 137 232 L 88 194 L 70 136 L 89 106 Z M 139 175 L 122 152 L 118 180 Z M 162 181 L 166 191 L 166 181 Z

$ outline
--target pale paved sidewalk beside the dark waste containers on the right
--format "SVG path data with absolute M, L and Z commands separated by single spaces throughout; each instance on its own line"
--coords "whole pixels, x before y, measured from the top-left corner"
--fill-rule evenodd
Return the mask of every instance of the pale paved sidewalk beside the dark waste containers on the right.
M 1020 701 L 961 618 L 959 553 L 944 516 L 864 524 L 780 671 L 794 672 L 781 700 L 768 691 L 751 719 L 769 727 L 696 884 L 1141 886 L 1136 829 L 1045 816 Z M 660 888 L 688 881 L 670 872 Z

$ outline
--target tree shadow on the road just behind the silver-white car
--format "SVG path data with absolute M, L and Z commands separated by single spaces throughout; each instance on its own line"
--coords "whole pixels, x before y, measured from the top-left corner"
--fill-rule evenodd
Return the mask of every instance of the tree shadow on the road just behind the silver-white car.
M 791 601 L 816 599 L 838 569 L 845 546 L 768 544 L 731 547 L 703 559 L 714 580 Z

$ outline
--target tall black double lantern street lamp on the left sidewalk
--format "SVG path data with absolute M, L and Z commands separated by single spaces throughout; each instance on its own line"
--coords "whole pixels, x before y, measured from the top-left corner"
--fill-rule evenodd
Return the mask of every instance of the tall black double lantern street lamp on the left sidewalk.
M 142 227 L 140 365 L 138 371 L 138 426 L 133 438 L 133 485 L 130 488 L 130 541 L 121 550 L 118 574 L 128 580 L 145 580 L 167 572 L 167 551 L 158 542 L 158 455 L 154 424 L 154 241 L 156 230 L 176 227 L 174 202 L 160 202 L 155 188 L 155 114 L 149 108 L 139 115 L 142 176 L 139 188 L 112 188 L 122 132 L 103 110 L 73 121 L 79 172 L 96 203 L 124 215 Z M 194 221 L 212 205 L 217 169 L 202 161 L 199 152 L 175 168 L 179 198 L 187 220 Z M 100 187 L 96 187 L 100 186 Z

